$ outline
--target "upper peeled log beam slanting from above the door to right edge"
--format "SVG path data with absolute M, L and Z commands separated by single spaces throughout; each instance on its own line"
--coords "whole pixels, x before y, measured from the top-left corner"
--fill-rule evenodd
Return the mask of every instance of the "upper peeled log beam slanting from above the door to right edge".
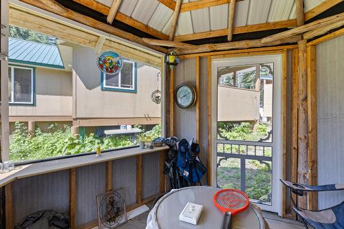
M 343 21 L 343 20 L 344 20 L 344 12 L 341 14 L 336 14 L 336 15 L 331 16 L 331 17 L 326 17 L 325 19 L 319 19 L 319 20 L 313 21 L 311 23 L 301 25 L 297 28 L 293 28 L 293 29 L 287 30 L 285 32 L 280 32 L 278 34 L 267 36 L 264 39 L 261 39 L 261 42 L 262 43 L 270 43 L 272 41 L 277 41 L 279 39 L 283 39 L 284 37 L 302 34 L 304 32 L 308 32 L 310 30 L 315 30 L 317 28 L 321 28 L 322 26 L 330 25 L 330 24 L 337 23 L 338 21 Z

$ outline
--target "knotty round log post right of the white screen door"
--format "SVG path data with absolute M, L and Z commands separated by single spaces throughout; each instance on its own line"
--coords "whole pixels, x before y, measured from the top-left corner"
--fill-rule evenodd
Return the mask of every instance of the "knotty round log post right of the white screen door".
M 299 71 L 298 71 L 298 174 L 297 182 L 308 184 L 308 128 L 307 128 L 307 40 L 301 40 L 299 45 Z M 308 207 L 307 197 L 298 197 L 301 208 Z

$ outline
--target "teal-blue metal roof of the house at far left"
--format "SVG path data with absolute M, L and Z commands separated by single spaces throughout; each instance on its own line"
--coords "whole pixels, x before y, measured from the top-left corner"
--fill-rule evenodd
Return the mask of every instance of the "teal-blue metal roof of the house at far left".
M 12 37 L 8 39 L 8 58 L 11 63 L 65 68 L 57 45 L 47 45 Z

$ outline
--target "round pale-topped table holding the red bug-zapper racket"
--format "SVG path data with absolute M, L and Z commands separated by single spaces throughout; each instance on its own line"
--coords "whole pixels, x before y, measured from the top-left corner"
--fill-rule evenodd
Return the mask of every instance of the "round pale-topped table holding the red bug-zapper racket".
M 213 196 L 217 190 L 217 188 L 208 186 L 171 190 L 170 193 L 159 199 L 149 213 L 147 229 L 221 228 L 223 214 L 213 204 Z M 197 225 L 179 220 L 180 212 L 188 202 L 203 206 L 203 212 Z M 232 228 L 268 229 L 268 225 L 261 215 L 261 210 L 254 204 L 250 204 L 247 210 L 233 216 Z

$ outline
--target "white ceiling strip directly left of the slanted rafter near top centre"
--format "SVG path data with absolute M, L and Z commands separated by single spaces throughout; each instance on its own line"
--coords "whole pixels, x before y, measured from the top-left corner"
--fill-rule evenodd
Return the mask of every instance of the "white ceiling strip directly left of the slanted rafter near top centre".
M 164 6 L 164 4 L 159 4 L 158 8 L 156 8 L 151 20 L 149 20 L 148 25 L 155 30 L 161 31 L 164 26 L 166 25 L 167 21 L 169 21 L 173 11 Z

